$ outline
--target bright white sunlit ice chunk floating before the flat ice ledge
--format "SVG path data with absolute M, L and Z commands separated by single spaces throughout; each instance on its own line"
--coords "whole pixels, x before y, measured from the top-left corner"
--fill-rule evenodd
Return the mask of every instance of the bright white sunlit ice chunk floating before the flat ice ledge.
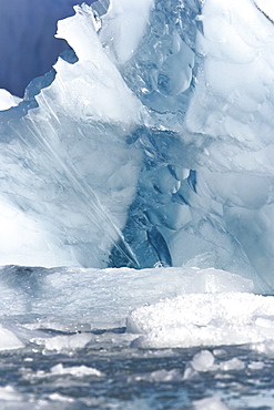
M 142 334 L 133 341 L 141 348 L 273 341 L 273 297 L 236 293 L 186 295 L 133 310 L 128 317 L 128 331 Z M 262 326 L 258 318 L 266 318 L 272 326 Z

